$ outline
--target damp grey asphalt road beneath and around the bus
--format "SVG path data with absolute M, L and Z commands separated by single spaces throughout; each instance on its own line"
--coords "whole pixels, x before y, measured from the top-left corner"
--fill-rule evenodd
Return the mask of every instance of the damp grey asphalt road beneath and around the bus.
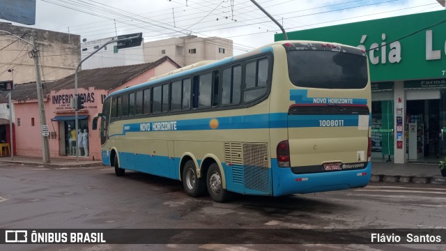
M 0 172 L 0 229 L 446 228 L 445 185 L 371 183 L 308 195 L 238 196 L 218 204 L 209 197 L 187 197 L 179 181 L 137 172 L 116 177 L 109 167 L 0 163 Z M 0 250 L 197 249 L 446 250 L 446 245 L 0 245 Z

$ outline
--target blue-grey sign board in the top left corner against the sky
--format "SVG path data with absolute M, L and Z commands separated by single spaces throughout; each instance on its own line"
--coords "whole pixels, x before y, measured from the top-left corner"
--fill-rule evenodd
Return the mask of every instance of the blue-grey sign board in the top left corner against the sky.
M 0 19 L 36 24 L 36 0 L 0 0 Z

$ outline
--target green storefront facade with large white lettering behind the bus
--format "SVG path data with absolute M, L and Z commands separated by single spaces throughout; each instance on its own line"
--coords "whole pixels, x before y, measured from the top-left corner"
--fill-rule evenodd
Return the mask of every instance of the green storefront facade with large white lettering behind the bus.
M 446 155 L 446 10 L 287 34 L 367 51 L 372 160 L 438 162 Z

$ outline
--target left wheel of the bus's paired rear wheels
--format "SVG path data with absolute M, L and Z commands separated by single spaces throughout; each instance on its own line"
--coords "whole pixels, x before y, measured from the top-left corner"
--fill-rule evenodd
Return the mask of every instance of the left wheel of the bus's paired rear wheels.
M 188 160 L 184 166 L 183 187 L 190 197 L 199 197 L 206 192 L 206 181 L 197 177 L 197 169 L 192 160 Z

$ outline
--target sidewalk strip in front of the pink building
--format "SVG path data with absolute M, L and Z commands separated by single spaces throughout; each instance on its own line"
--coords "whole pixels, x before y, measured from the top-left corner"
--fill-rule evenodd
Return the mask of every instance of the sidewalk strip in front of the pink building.
M 11 160 L 11 157 L 8 156 L 1 157 L 0 162 L 41 165 L 43 167 L 93 167 L 102 165 L 102 161 L 85 160 L 82 157 L 79 157 L 79 162 L 76 162 L 76 158 L 51 158 L 50 163 L 43 164 L 42 157 L 14 156 L 14 160 Z

